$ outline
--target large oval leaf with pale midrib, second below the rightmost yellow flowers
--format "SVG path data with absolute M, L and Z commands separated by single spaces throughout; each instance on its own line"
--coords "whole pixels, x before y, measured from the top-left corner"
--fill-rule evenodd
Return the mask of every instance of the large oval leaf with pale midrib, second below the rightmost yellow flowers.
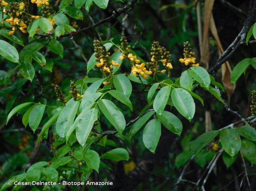
M 172 91 L 172 102 L 181 115 L 189 121 L 192 120 L 195 114 L 195 102 L 190 93 L 182 88 L 175 88 Z

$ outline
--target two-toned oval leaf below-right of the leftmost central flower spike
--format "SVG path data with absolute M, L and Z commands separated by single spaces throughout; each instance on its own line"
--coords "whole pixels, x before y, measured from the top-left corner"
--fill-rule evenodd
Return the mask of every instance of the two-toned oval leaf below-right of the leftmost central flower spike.
M 130 80 L 124 74 L 114 75 L 113 79 L 116 90 L 122 92 L 129 98 L 132 93 L 132 84 L 130 83 Z

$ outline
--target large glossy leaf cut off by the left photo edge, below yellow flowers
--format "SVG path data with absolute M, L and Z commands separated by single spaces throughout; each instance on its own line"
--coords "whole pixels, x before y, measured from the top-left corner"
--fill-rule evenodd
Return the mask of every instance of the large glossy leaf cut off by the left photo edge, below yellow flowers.
M 17 49 L 4 40 L 0 40 L 0 55 L 14 63 L 20 63 Z

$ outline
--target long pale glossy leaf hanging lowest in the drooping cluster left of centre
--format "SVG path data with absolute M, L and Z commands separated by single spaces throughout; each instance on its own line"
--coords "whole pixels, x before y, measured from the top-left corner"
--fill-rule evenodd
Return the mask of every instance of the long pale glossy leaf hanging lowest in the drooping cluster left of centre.
M 84 118 L 80 118 L 76 125 L 76 138 L 82 146 L 86 143 L 94 122 L 97 121 L 97 115 L 98 110 L 96 108 L 92 108 L 84 115 Z

